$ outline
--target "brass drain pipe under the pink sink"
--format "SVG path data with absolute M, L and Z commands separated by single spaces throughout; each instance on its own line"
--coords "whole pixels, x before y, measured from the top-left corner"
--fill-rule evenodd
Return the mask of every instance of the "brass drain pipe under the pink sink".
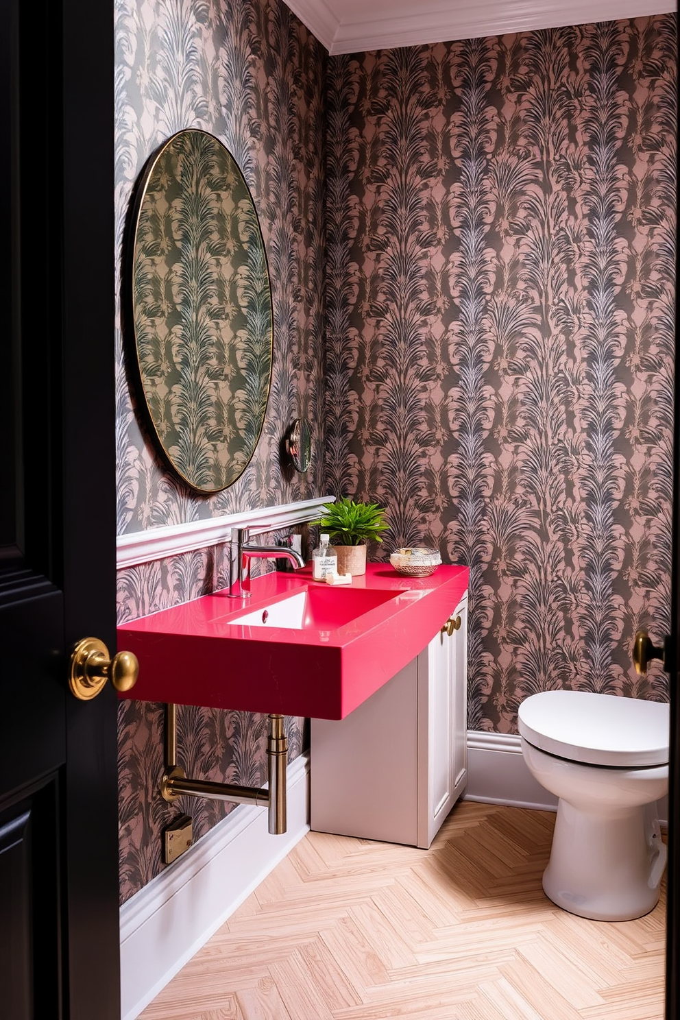
M 161 796 L 168 804 L 178 797 L 206 797 L 210 801 L 231 801 L 233 804 L 255 804 L 268 808 L 269 832 L 285 832 L 287 741 L 283 716 L 268 716 L 267 780 L 268 789 L 239 786 L 210 779 L 189 779 L 177 765 L 177 706 L 165 706 L 165 771 L 160 783 Z

